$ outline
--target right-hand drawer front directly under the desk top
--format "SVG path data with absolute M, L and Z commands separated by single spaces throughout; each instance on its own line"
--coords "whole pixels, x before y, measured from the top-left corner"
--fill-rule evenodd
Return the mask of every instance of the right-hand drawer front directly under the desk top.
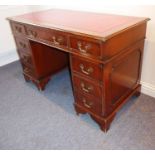
M 101 58 L 101 46 L 97 41 L 83 39 L 83 37 L 70 37 L 70 46 L 79 54 Z

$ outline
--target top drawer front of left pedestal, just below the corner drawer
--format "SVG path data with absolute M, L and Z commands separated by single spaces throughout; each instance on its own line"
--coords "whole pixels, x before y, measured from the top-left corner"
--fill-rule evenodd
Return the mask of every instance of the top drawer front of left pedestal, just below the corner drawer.
M 30 53 L 28 40 L 26 40 L 24 38 L 15 37 L 15 41 L 16 41 L 17 48 L 20 51 L 23 51 L 25 53 Z

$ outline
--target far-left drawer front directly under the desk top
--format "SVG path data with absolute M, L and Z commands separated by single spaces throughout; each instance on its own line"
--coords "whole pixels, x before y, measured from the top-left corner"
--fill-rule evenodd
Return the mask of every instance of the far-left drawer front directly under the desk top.
M 24 25 L 19 23 L 11 23 L 11 27 L 14 34 L 17 35 L 25 35 L 25 28 Z

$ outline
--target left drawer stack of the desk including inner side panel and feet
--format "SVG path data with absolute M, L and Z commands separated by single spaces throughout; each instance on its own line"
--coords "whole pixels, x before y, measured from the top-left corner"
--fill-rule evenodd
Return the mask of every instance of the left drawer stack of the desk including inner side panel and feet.
M 29 39 L 24 25 L 11 23 L 11 28 L 25 80 L 44 90 L 51 75 L 68 65 L 68 54 L 39 42 L 39 39 Z

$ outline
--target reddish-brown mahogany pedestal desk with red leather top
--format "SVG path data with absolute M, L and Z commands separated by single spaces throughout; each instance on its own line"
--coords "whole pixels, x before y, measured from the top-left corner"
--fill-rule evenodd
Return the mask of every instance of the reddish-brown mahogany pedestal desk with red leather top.
M 25 80 L 43 90 L 69 64 L 77 114 L 89 113 L 103 131 L 140 95 L 148 18 L 53 9 L 8 20 Z

